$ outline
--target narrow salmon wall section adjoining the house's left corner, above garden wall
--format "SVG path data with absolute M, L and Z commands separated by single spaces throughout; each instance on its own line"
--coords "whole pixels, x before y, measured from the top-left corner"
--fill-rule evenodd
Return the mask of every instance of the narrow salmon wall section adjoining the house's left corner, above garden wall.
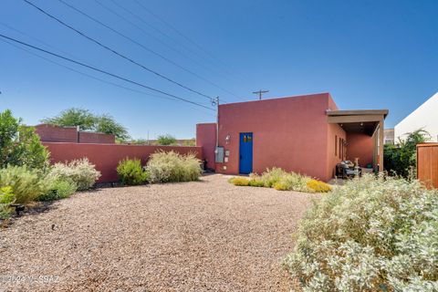
M 216 123 L 196 125 L 196 146 L 202 147 L 203 159 L 207 160 L 207 168 L 214 170 L 214 150 L 216 148 Z

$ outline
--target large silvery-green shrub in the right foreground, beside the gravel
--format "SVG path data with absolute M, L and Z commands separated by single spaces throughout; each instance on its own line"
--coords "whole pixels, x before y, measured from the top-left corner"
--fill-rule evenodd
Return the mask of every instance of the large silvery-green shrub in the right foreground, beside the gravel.
M 438 290 L 438 192 L 364 175 L 316 202 L 285 266 L 304 291 Z

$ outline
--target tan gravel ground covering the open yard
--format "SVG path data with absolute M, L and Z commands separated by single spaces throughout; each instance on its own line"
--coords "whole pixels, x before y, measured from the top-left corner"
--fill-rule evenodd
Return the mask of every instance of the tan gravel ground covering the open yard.
M 227 178 L 99 189 L 26 214 L 0 231 L 0 291 L 288 291 L 280 261 L 316 195 Z

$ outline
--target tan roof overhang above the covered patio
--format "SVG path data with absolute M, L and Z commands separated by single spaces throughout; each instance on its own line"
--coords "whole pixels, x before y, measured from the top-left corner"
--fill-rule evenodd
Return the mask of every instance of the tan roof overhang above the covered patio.
M 327 110 L 328 123 L 337 123 L 346 132 L 372 136 L 389 110 Z

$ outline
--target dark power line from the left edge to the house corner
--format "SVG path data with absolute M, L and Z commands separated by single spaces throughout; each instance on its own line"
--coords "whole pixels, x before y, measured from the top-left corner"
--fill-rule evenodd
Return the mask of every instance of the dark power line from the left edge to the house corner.
M 74 59 L 71 59 L 71 58 L 69 58 L 69 57 L 64 57 L 64 56 L 58 55 L 58 54 L 56 54 L 56 53 L 53 53 L 53 52 L 48 51 L 47 49 L 44 49 L 44 48 L 41 48 L 41 47 L 36 47 L 36 46 L 30 45 L 30 44 L 27 44 L 27 43 L 22 42 L 22 41 L 20 41 L 20 40 L 14 38 L 14 37 L 5 36 L 5 35 L 2 35 L 2 34 L 0 34 L 0 37 L 3 37 L 3 38 L 8 39 L 8 40 L 11 40 L 11 41 L 13 41 L 13 42 L 15 42 L 15 43 L 18 43 L 18 44 L 21 44 L 21 45 L 23 45 L 23 46 L 25 46 L 25 47 L 31 47 L 31 48 L 34 48 L 34 49 L 36 49 L 36 50 L 38 50 L 38 51 L 40 51 L 40 52 L 44 52 L 44 53 L 46 53 L 46 54 L 48 54 L 48 55 L 51 55 L 51 56 L 54 56 L 54 57 L 58 57 L 58 58 L 62 58 L 62 59 L 67 60 L 67 61 L 69 61 L 69 62 L 71 62 L 71 63 L 77 64 L 77 65 L 79 65 L 79 66 L 86 67 L 86 68 L 92 69 L 92 70 L 94 70 L 94 71 L 98 71 L 99 73 L 102 73 L 102 74 L 108 75 L 108 76 L 110 76 L 110 77 L 118 78 L 118 79 L 123 80 L 123 81 L 125 81 L 125 82 L 129 82 L 129 83 L 131 83 L 131 84 L 134 84 L 134 85 L 140 86 L 140 87 L 142 87 L 142 88 L 144 88 L 144 89 L 150 89 L 151 91 L 155 91 L 155 92 L 161 93 L 161 94 L 163 94 L 163 95 L 166 95 L 166 96 L 172 97 L 173 99 L 183 100 L 183 101 L 185 101 L 185 102 L 191 103 L 191 104 L 193 104 L 193 105 L 196 105 L 196 106 L 202 107 L 202 108 L 207 109 L 207 110 L 214 110 L 214 109 L 212 109 L 212 108 L 206 107 L 206 106 L 204 106 L 203 104 L 200 104 L 200 103 L 194 102 L 194 101 L 192 101 L 192 100 L 184 99 L 184 98 L 178 97 L 178 96 L 176 96 L 176 95 L 173 95 L 172 93 L 168 93 L 168 92 L 162 91 L 162 90 L 160 90 L 160 89 L 154 89 L 154 88 L 151 88 L 150 86 L 144 85 L 144 84 L 142 84 L 142 83 L 140 83 L 140 82 L 137 82 L 137 81 L 133 81 L 133 80 L 131 80 L 131 79 L 129 79 L 129 78 L 120 77 L 120 76 L 117 75 L 117 74 L 110 73 L 110 72 L 108 72 L 108 71 L 106 71 L 106 70 L 103 70 L 103 69 L 100 69 L 100 68 L 96 68 L 96 67 L 93 67 L 93 66 L 89 66 L 89 65 L 87 65 L 87 64 L 81 63 L 81 62 L 76 61 L 76 60 L 74 60 Z

